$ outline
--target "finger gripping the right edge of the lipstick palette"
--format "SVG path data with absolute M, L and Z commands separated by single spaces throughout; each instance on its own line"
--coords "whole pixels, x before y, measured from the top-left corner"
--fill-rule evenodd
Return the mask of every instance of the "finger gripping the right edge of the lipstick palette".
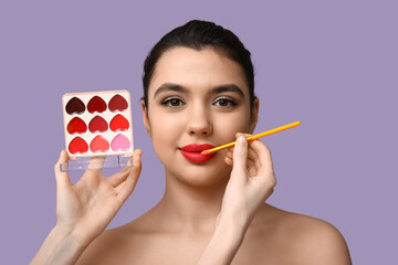
M 122 202 L 125 202 L 127 200 L 127 198 L 132 194 L 140 171 L 142 171 L 142 150 L 140 149 L 136 149 L 134 150 L 133 153 L 133 168 L 127 177 L 127 179 L 121 183 L 118 187 L 116 187 L 116 191 L 117 191 L 117 197 L 121 199 Z

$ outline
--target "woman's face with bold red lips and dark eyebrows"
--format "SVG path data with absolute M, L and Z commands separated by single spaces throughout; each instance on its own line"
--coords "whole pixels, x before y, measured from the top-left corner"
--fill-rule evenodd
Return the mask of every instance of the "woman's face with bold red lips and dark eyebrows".
M 174 47 L 158 62 L 143 103 L 144 124 L 166 176 L 193 186 L 228 180 L 224 151 L 200 151 L 254 130 L 258 102 L 250 95 L 241 66 L 213 49 Z

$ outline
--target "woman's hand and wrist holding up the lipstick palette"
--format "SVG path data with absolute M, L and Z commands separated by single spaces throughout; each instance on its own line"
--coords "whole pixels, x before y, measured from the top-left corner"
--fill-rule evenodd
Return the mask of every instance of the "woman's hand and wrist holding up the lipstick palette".
M 134 151 L 132 169 L 122 169 L 109 178 L 101 170 L 86 170 L 72 184 L 67 172 L 61 171 L 61 163 L 69 159 L 62 150 L 54 166 L 57 222 L 30 264 L 75 264 L 132 194 L 142 170 L 140 155 L 140 149 Z M 101 162 L 101 158 L 91 161 Z

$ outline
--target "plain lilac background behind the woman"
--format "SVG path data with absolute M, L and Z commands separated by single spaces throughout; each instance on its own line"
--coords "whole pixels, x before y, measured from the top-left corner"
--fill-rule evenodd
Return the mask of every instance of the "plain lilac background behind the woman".
M 111 227 L 159 201 L 163 167 L 138 104 L 142 66 L 161 35 L 190 19 L 231 29 L 252 51 L 255 132 L 302 120 L 263 139 L 279 180 L 269 202 L 334 224 L 355 264 L 396 262 L 397 2 L 0 2 L 0 264 L 27 264 L 55 224 L 64 93 L 132 92 L 144 169 Z

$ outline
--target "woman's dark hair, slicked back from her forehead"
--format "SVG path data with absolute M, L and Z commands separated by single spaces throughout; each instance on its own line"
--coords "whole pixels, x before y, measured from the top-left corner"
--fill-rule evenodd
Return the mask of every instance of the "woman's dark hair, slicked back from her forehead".
M 143 85 L 145 106 L 148 107 L 148 88 L 150 78 L 159 57 L 176 46 L 191 47 L 200 51 L 205 47 L 213 47 L 232 61 L 239 63 L 244 72 L 249 93 L 250 106 L 253 107 L 254 96 L 254 70 L 250 52 L 244 47 L 239 38 L 213 22 L 191 20 L 185 25 L 178 26 L 164 35 L 151 49 L 144 63 Z

